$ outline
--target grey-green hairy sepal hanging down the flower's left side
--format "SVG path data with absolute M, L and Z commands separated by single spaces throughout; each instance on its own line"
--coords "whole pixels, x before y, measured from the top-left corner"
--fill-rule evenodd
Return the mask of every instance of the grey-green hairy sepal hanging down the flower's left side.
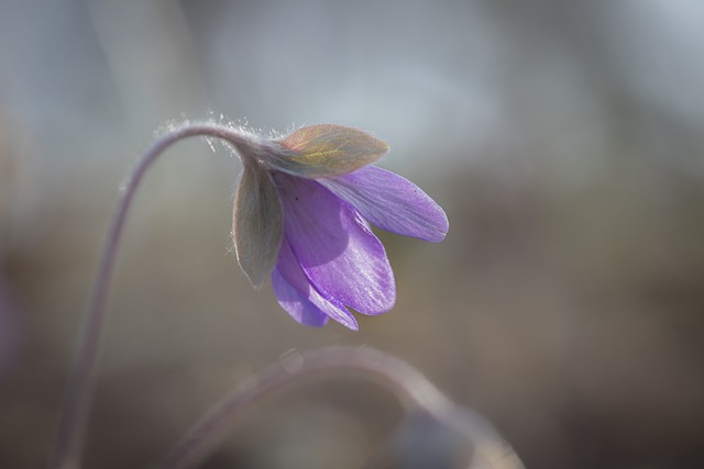
M 234 198 L 232 238 L 240 267 L 261 287 L 276 264 L 283 237 L 282 204 L 271 176 L 243 159 Z

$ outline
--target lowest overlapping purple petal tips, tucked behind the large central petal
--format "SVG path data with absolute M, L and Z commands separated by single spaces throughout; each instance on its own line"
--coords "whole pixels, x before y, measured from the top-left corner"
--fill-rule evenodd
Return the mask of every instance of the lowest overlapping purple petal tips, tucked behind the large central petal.
M 272 272 L 272 287 L 278 304 L 301 324 L 322 326 L 328 317 L 332 317 L 353 331 L 359 330 L 356 320 L 344 305 L 322 297 L 312 288 L 286 241 L 282 244 L 278 264 Z

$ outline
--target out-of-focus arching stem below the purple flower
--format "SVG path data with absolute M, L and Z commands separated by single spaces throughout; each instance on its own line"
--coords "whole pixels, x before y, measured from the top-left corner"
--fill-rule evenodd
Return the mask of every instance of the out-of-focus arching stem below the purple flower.
M 305 377 L 346 376 L 350 372 L 376 381 L 399 398 L 409 411 L 432 420 L 439 425 L 437 428 L 461 434 L 462 444 L 469 446 L 462 449 L 472 454 L 471 468 L 524 468 L 510 446 L 488 424 L 454 405 L 417 369 L 371 347 L 333 346 L 295 354 L 248 379 L 197 422 L 156 469 L 186 469 L 205 460 L 208 451 L 224 437 L 223 431 L 248 405 L 285 386 Z

